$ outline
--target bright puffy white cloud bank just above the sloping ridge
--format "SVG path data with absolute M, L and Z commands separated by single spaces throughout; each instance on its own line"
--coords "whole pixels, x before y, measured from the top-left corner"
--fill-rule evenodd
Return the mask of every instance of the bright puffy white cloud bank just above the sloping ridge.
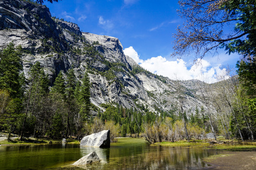
M 132 47 L 125 48 L 124 53 L 134 59 L 136 63 L 139 63 L 142 68 L 151 73 L 167 76 L 173 80 L 198 79 L 205 81 L 206 83 L 215 83 L 216 81 L 219 81 L 219 76 L 221 76 L 222 80 L 229 78 L 227 70 L 221 69 L 221 65 L 213 66 L 204 59 L 198 60 L 191 66 L 191 68 L 188 68 L 183 59 L 168 61 L 166 58 L 163 58 L 163 56 L 157 56 L 147 60 L 141 60 L 140 56 Z

